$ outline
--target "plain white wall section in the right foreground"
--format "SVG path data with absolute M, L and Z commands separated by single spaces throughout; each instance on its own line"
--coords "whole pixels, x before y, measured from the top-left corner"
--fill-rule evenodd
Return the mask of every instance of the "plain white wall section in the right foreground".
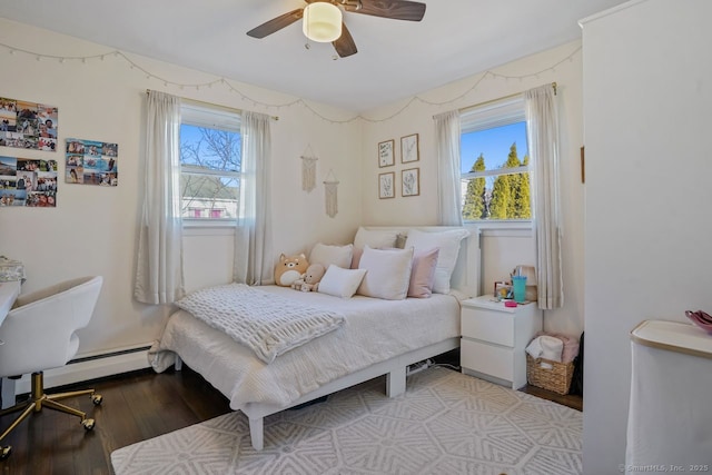
M 712 308 L 711 17 L 650 0 L 583 22 L 586 474 L 625 461 L 630 331 Z

